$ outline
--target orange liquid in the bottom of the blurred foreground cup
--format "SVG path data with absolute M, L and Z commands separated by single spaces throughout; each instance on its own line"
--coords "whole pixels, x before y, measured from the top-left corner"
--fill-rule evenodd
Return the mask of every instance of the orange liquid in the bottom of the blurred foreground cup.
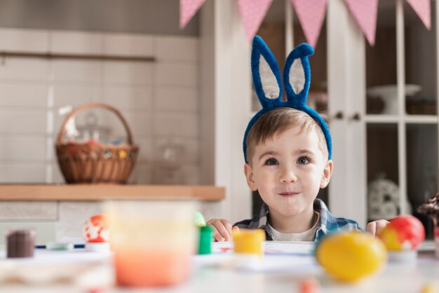
M 121 286 L 175 285 L 187 280 L 190 256 L 184 251 L 114 252 L 116 280 Z

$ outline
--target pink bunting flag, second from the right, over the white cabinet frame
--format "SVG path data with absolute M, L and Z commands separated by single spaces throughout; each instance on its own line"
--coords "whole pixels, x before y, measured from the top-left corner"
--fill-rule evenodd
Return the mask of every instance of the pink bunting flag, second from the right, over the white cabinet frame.
M 417 1 L 417 0 L 415 0 Z M 344 0 L 370 46 L 375 44 L 378 0 Z

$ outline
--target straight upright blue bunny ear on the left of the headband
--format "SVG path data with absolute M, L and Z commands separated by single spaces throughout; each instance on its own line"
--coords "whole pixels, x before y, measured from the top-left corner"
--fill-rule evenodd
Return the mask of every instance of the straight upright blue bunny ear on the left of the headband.
M 260 36 L 253 38 L 252 77 L 263 108 L 282 97 L 282 79 L 276 58 Z

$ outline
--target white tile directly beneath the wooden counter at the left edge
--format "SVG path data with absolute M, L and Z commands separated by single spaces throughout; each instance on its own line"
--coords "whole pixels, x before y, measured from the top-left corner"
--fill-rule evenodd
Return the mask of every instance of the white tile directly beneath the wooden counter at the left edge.
M 56 201 L 2 201 L 0 220 L 7 219 L 58 219 Z

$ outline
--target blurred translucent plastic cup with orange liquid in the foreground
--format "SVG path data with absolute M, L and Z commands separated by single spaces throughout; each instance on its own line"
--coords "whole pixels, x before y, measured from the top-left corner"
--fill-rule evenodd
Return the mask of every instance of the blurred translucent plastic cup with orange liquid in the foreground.
M 104 210 L 119 286 L 155 287 L 187 280 L 196 243 L 195 203 L 115 201 Z

